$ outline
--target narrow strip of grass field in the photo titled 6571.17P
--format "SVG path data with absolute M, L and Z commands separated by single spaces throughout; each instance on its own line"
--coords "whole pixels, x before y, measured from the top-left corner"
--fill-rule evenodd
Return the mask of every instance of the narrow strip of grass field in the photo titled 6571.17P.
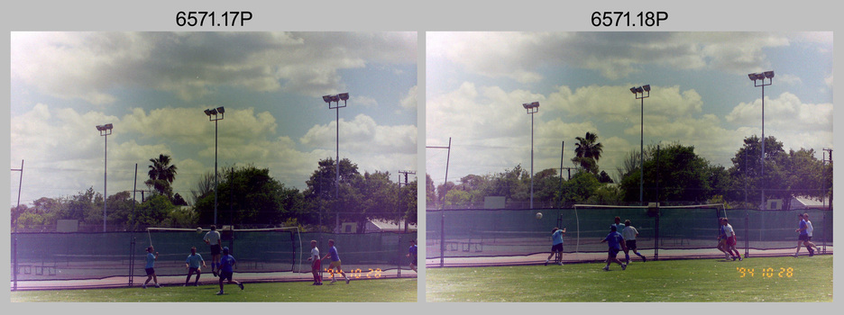
M 245 284 L 243 291 L 225 284 L 141 289 L 50 290 L 12 292 L 12 302 L 417 302 L 417 279 L 379 279 L 315 286 L 310 282 Z

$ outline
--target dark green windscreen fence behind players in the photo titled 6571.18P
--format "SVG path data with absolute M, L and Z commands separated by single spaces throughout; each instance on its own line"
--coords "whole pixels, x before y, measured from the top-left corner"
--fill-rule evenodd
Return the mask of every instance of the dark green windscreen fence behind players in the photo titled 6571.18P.
M 537 211 L 542 219 L 537 220 Z M 507 257 L 548 253 L 551 229 L 565 228 L 564 252 L 604 252 L 601 239 L 618 216 L 638 229 L 637 246 L 648 249 L 713 248 L 718 220 L 726 216 L 741 248 L 778 249 L 797 244 L 798 213 L 808 212 L 818 246 L 832 244 L 832 211 L 757 211 L 701 208 L 596 208 L 427 211 L 428 259 Z M 658 231 L 657 231 L 658 228 Z

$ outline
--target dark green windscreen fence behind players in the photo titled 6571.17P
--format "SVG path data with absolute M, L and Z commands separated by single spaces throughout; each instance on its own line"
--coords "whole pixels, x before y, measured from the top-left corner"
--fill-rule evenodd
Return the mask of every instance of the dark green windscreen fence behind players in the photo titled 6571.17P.
M 222 231 L 223 246 L 230 247 L 238 273 L 310 273 L 310 241 L 317 241 L 322 255 L 328 239 L 335 239 L 343 269 L 366 274 L 370 270 L 407 269 L 411 233 L 298 233 L 295 230 Z M 186 275 L 190 247 L 210 267 L 211 253 L 196 230 L 151 230 L 105 233 L 12 233 L 12 281 L 102 279 L 115 276 L 145 277 L 146 248 L 160 253 L 156 275 Z M 300 242 L 301 239 L 301 242 Z M 327 266 L 324 264 L 324 266 Z M 210 270 L 210 269 L 206 269 Z M 16 271 L 16 273 L 15 273 Z M 128 283 L 128 280 L 127 280 Z

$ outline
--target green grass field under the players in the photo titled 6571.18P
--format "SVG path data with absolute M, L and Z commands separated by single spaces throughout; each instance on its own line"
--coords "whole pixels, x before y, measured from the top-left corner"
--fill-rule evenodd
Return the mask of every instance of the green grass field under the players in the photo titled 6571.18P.
M 604 263 L 428 268 L 426 300 L 832 302 L 832 256 L 750 257 L 744 261 L 661 260 L 647 263 L 637 258 L 624 271 L 616 264 L 610 266 L 609 272 L 603 271 L 603 266 Z

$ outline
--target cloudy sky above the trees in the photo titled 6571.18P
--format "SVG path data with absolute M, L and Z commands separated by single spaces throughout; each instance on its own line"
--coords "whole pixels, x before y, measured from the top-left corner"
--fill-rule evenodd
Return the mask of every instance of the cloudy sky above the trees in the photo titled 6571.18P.
M 641 137 L 679 142 L 729 166 L 742 140 L 762 129 L 762 89 L 749 73 L 774 70 L 765 88 L 765 135 L 784 148 L 832 144 L 831 32 L 427 32 L 426 145 L 452 138 L 448 180 L 521 165 L 573 166 L 575 137 L 597 133 L 602 170 L 617 167 Z M 426 168 L 445 180 L 447 150 L 427 148 Z

